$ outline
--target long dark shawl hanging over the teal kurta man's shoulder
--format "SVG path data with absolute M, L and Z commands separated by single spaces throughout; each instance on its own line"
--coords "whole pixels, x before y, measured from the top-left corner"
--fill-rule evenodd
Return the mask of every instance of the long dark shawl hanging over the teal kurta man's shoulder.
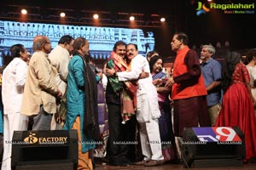
M 100 130 L 98 123 L 97 110 L 97 85 L 96 73 L 91 70 L 90 65 L 85 61 L 84 57 L 79 55 L 84 61 L 84 93 L 85 93 L 85 110 L 83 131 L 88 139 L 99 140 Z

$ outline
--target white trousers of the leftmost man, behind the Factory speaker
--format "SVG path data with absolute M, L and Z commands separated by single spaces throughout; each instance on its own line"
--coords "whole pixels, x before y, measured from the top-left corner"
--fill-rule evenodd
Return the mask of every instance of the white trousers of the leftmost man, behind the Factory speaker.
M 11 170 L 13 134 L 15 131 L 27 130 L 28 116 L 20 113 L 5 114 L 3 116 L 3 163 L 1 169 Z

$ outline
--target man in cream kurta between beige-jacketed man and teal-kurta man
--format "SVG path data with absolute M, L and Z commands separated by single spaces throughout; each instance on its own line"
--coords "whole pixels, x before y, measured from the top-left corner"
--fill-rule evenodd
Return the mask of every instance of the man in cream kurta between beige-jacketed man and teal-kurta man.
M 73 41 L 73 37 L 69 35 L 62 36 L 58 45 L 49 53 L 50 64 L 53 65 L 57 71 L 55 82 L 62 94 L 65 94 L 67 89 L 67 67 L 71 59 L 70 55 L 73 52 Z M 55 116 L 53 116 L 51 130 L 55 129 L 62 129 L 62 125 L 56 123 Z

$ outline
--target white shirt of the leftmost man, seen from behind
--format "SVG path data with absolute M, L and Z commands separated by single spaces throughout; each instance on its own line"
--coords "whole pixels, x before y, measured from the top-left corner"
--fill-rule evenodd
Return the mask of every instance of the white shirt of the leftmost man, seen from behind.
M 3 70 L 2 98 L 4 115 L 20 113 L 27 68 L 25 61 L 15 58 Z

